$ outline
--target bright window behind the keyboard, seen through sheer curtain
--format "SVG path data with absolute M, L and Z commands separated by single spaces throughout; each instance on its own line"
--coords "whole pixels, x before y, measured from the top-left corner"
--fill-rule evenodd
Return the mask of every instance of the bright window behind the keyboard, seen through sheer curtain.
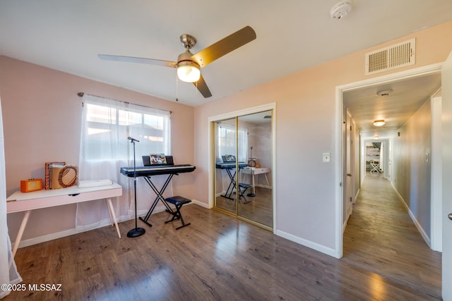
M 85 100 L 82 132 L 85 159 L 129 159 L 130 140 L 139 140 L 137 156 L 169 154 L 169 112 L 106 99 Z

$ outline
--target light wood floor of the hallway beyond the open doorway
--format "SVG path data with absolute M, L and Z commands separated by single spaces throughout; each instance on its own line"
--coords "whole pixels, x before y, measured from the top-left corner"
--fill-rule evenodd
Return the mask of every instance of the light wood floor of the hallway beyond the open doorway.
M 430 250 L 380 174 L 364 178 L 344 231 L 342 260 L 441 299 L 441 253 Z

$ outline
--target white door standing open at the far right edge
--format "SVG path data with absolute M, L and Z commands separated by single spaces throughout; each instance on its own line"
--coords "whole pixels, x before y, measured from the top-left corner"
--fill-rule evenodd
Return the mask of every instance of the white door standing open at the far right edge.
M 443 299 L 452 300 L 452 52 L 442 69 Z

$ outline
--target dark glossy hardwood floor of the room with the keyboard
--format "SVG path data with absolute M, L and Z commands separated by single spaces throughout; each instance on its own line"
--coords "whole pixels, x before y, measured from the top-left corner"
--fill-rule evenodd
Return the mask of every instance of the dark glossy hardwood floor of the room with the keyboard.
M 126 237 L 134 227 L 126 221 L 121 239 L 108 226 L 20 248 L 23 283 L 61 283 L 61 291 L 15 291 L 4 300 L 439 299 L 354 262 L 350 249 L 335 259 L 196 204 L 182 207 L 182 215 L 191 225 L 177 231 L 180 222 L 165 224 L 169 214 L 161 212 L 151 216 L 152 228 L 138 221 L 146 230 L 138 238 Z

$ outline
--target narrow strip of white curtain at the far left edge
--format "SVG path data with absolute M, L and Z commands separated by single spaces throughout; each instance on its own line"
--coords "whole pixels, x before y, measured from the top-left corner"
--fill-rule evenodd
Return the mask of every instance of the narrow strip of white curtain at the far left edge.
M 22 281 L 18 274 L 16 263 L 14 262 L 11 251 L 11 241 L 8 235 L 8 225 L 6 224 L 6 181 L 5 181 L 5 143 L 3 138 L 3 122 L 1 120 L 1 102 L 0 102 L 0 283 L 16 284 Z M 0 298 L 8 295 L 10 292 L 0 290 Z

